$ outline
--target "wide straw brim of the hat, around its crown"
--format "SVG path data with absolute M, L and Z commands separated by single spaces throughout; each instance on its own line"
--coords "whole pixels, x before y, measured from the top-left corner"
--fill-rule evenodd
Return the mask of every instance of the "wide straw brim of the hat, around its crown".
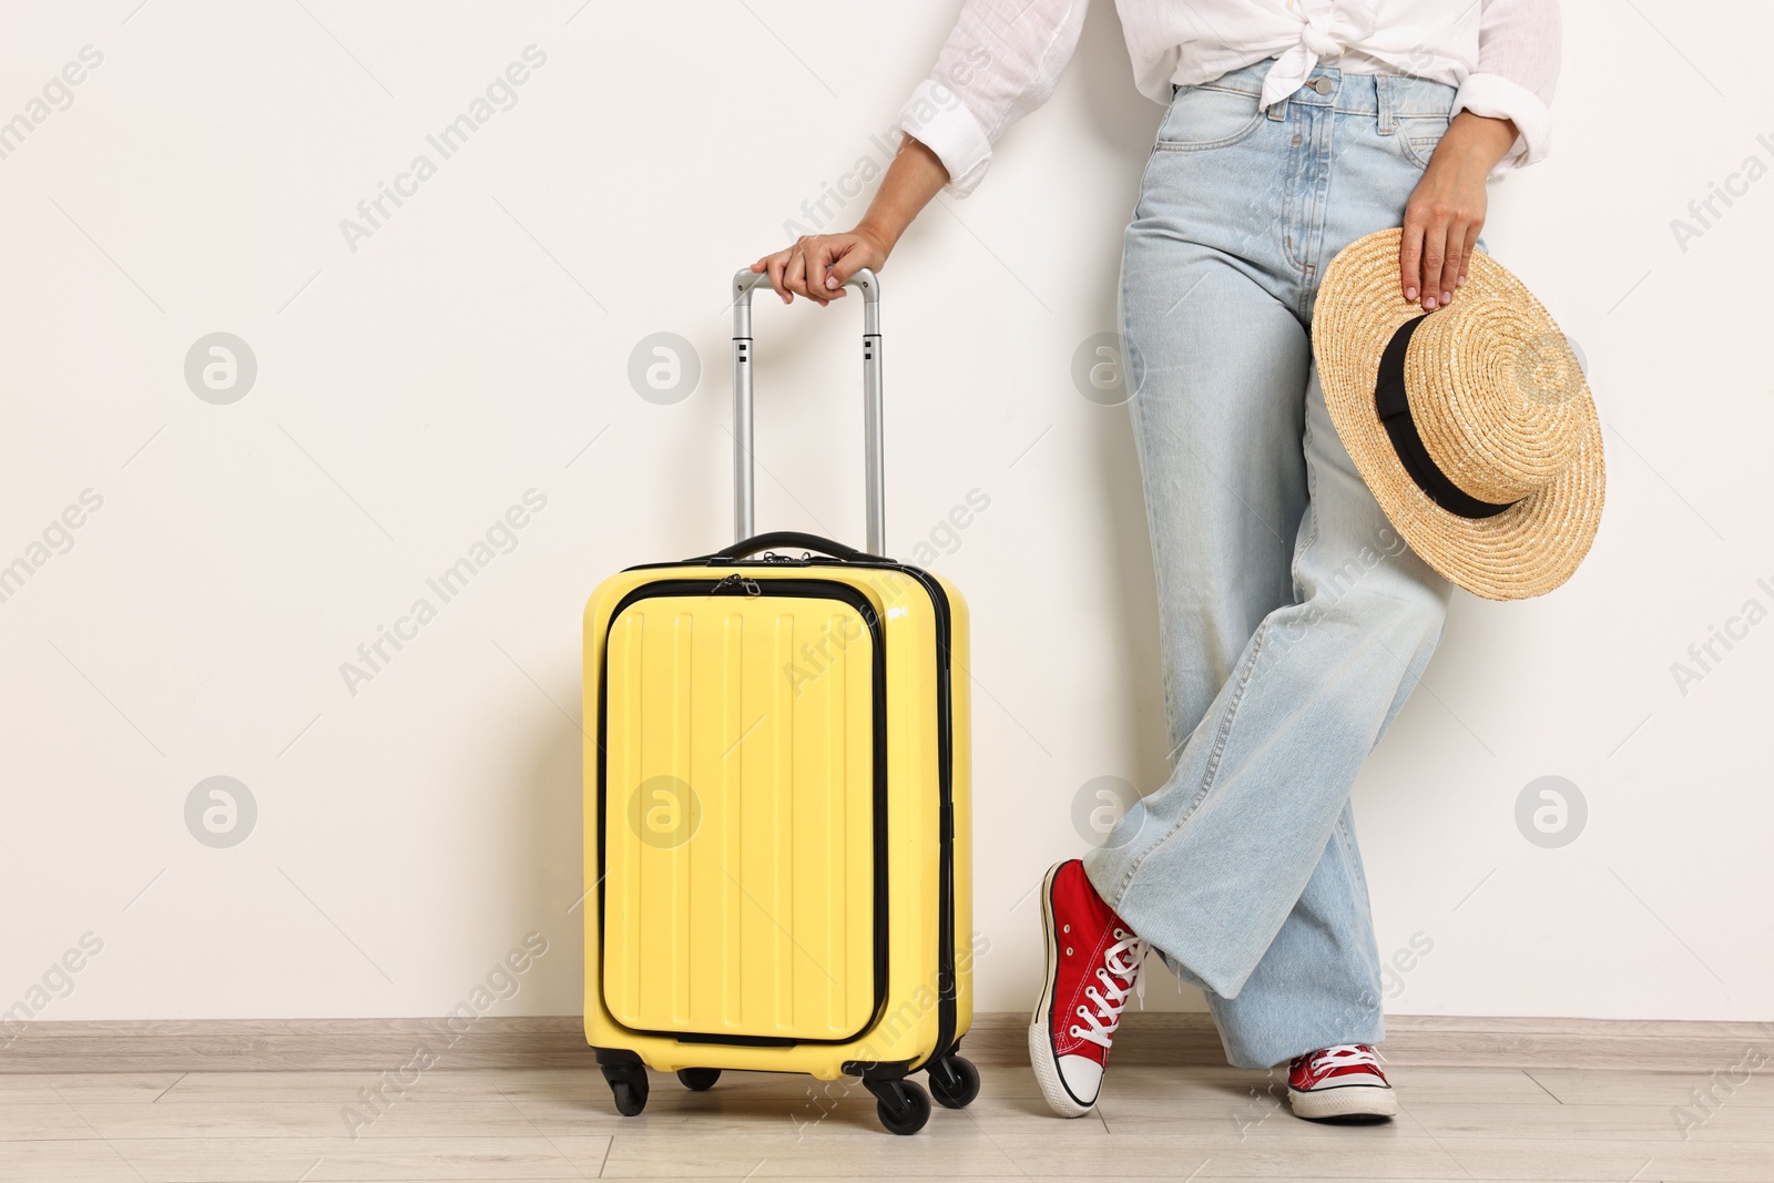
M 1581 381 L 1572 408 L 1581 422 L 1570 465 L 1545 488 L 1494 518 L 1442 509 L 1410 479 L 1373 404 L 1385 344 L 1423 309 L 1398 287 L 1400 231 L 1361 238 L 1332 259 L 1313 310 L 1313 358 L 1330 422 L 1357 472 L 1405 543 L 1449 582 L 1487 599 L 1542 596 L 1572 576 L 1602 521 L 1605 466 L 1602 424 Z M 1501 298 L 1524 316 L 1552 316 L 1499 262 L 1476 252 L 1460 300 Z

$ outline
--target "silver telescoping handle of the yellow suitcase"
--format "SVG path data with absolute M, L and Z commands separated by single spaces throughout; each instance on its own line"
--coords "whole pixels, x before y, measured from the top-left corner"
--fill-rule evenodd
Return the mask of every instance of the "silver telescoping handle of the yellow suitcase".
M 768 271 L 743 268 L 733 277 L 733 530 L 743 543 L 752 537 L 752 293 L 770 287 Z M 882 472 L 882 284 L 862 268 L 846 287 L 862 289 L 862 475 L 867 488 L 867 543 L 871 555 L 885 553 L 887 509 Z

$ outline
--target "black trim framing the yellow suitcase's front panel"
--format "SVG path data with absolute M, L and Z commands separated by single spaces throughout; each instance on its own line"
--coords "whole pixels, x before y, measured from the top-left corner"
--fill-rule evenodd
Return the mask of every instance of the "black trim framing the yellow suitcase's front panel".
M 681 566 L 681 564 L 649 564 L 649 566 Z M 637 568 L 630 568 L 637 569 Z M 683 1032 L 683 1030 L 642 1030 L 633 1027 L 624 1027 L 624 1030 L 633 1030 L 640 1036 L 658 1036 L 663 1039 L 676 1039 L 679 1043 L 724 1043 L 731 1046 L 798 1046 L 811 1043 L 853 1043 L 867 1034 L 876 1022 L 880 1022 L 882 1011 L 887 1006 L 887 639 L 882 633 L 880 617 L 875 614 L 875 605 L 855 587 L 848 584 L 836 584 L 828 580 L 742 580 L 736 575 L 729 575 L 720 580 L 655 580 L 653 584 L 642 584 L 626 596 L 623 596 L 616 608 L 610 612 L 607 631 L 616 628 L 616 619 L 637 599 L 648 599 L 655 596 L 713 596 L 713 594 L 743 594 L 743 596 L 795 596 L 795 598 L 814 598 L 814 599 L 839 599 L 848 603 L 862 617 L 864 624 L 869 628 L 871 649 L 875 654 L 875 663 L 871 670 L 871 681 L 875 685 L 873 693 L 873 780 L 875 780 L 875 816 L 873 816 L 873 853 L 875 853 L 875 1006 L 869 1013 L 867 1022 L 853 1034 L 841 1039 L 786 1039 L 779 1036 L 733 1036 L 720 1032 Z M 946 605 L 944 605 L 946 615 Z M 605 963 L 603 958 L 603 935 L 607 929 L 603 913 L 603 880 L 605 880 L 605 821 L 608 819 L 608 786 L 605 770 L 605 750 L 607 750 L 607 715 L 608 715 L 608 672 L 610 672 L 610 654 L 608 646 L 605 646 L 603 660 L 598 667 L 598 965 L 600 974 Z M 944 683 L 942 693 L 947 693 L 947 685 Z M 947 718 L 944 718 L 942 734 L 947 734 Z M 938 741 L 938 747 L 942 741 Z M 944 796 L 947 796 L 947 773 L 944 773 Z M 944 885 L 947 887 L 947 878 L 953 871 L 944 876 Z M 953 903 L 949 912 L 953 912 Z M 953 929 L 953 917 L 946 921 Z M 951 949 L 953 952 L 953 949 Z M 953 958 L 951 958 L 953 963 Z M 953 977 L 953 974 L 951 974 Z M 601 993 L 603 984 L 600 981 L 598 990 Z M 953 991 L 953 983 L 951 983 Z M 949 1029 L 953 1030 L 953 997 L 947 1002 Z M 614 1023 L 614 1016 L 610 1018 Z M 938 1018 L 940 1023 L 940 1018 Z M 621 1025 L 621 1023 L 617 1023 Z M 938 1030 L 940 1034 L 940 1030 Z

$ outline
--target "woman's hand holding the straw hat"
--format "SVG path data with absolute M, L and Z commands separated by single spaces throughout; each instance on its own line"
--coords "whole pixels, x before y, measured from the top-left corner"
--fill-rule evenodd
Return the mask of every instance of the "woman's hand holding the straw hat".
M 1485 229 L 1485 177 L 1515 144 L 1515 124 L 1460 112 L 1405 204 L 1398 282 L 1433 312 L 1453 300 Z

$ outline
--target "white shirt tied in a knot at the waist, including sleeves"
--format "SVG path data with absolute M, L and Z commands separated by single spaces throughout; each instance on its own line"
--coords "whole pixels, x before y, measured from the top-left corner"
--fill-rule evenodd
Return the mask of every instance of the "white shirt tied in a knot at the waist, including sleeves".
M 967 0 L 937 67 L 899 126 L 949 170 L 965 197 L 1009 124 L 1047 101 L 1071 59 L 1089 0 Z M 1323 62 L 1456 87 L 1453 112 L 1513 119 L 1520 137 L 1499 170 L 1545 158 L 1558 82 L 1558 0 L 1116 0 L 1134 83 L 1169 105 L 1173 85 L 1276 59 L 1261 105 Z

